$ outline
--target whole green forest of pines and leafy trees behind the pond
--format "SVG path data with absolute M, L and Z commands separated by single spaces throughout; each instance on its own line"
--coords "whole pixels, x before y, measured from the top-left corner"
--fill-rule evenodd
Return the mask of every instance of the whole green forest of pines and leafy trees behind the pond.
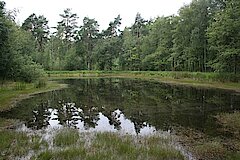
M 67 8 L 57 26 L 32 13 L 21 24 L 0 1 L 0 78 L 32 82 L 45 71 L 240 71 L 240 1 L 193 0 L 177 15 L 121 30 L 121 15 L 100 31 L 94 17 Z

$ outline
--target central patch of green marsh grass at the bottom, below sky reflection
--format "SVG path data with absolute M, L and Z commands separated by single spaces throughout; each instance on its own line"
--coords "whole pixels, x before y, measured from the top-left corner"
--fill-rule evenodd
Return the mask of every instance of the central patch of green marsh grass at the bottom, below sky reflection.
M 40 160 L 102 160 L 102 159 L 184 159 L 180 151 L 171 145 L 171 139 L 162 138 L 157 135 L 149 137 L 136 137 L 131 135 L 120 135 L 117 133 L 79 133 L 74 129 L 63 129 L 59 131 L 54 141 L 60 141 L 55 148 L 46 149 L 32 159 Z M 88 135 L 89 134 L 89 135 Z M 73 141 L 72 138 L 75 137 Z M 85 138 L 83 138 L 85 137 Z M 86 137 L 92 137 L 87 138 Z M 71 143 L 66 143 L 66 140 Z M 56 147 L 61 147 L 57 149 Z

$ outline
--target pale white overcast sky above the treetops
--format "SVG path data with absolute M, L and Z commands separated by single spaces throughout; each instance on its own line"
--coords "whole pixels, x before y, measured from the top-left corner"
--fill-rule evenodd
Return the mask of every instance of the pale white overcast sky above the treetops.
M 144 19 L 177 14 L 178 10 L 192 0 L 4 0 L 8 10 L 17 9 L 17 23 L 21 24 L 29 15 L 44 15 L 49 26 L 54 27 L 61 20 L 59 14 L 66 8 L 79 17 L 95 18 L 100 29 L 106 29 L 110 21 L 118 14 L 122 18 L 122 27 L 131 26 L 139 12 Z

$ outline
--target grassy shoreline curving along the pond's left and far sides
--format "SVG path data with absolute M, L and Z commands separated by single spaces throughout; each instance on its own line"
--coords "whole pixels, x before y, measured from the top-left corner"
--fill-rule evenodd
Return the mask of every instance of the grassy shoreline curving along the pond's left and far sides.
M 164 73 L 164 72 L 163 72 Z M 159 83 L 166 83 L 169 85 L 181 85 L 186 87 L 196 88 L 211 88 L 234 91 L 236 94 L 240 93 L 240 83 L 234 82 L 219 82 L 207 81 L 193 78 L 181 78 L 170 76 L 160 76 L 162 72 L 122 72 L 122 71 L 48 71 L 47 86 L 43 88 L 34 88 L 32 84 L 27 84 L 27 88 L 23 90 L 0 90 L 0 112 L 6 111 L 14 107 L 14 105 L 25 98 L 33 96 L 34 94 L 49 92 L 52 90 L 59 90 L 66 88 L 66 84 L 59 84 L 51 80 L 57 79 L 82 79 L 82 78 L 129 78 L 140 79 L 146 81 L 153 81 Z M 166 72 L 168 73 L 168 72 Z M 159 75 L 160 74 L 160 75 Z M 181 74 L 181 72 L 179 72 Z M 190 73 L 192 74 L 192 73 Z M 31 86 L 29 88 L 29 86 Z

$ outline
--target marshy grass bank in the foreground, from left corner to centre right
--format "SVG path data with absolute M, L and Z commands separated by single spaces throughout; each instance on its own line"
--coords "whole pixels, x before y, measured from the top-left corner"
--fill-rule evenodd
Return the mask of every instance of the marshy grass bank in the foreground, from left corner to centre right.
M 0 132 L 3 158 L 39 160 L 72 159 L 176 159 L 184 156 L 176 150 L 171 138 L 158 135 L 147 137 L 117 133 L 79 133 L 75 129 L 58 130 L 52 139 L 43 140 L 22 132 Z M 21 147 L 25 146 L 25 147 Z

